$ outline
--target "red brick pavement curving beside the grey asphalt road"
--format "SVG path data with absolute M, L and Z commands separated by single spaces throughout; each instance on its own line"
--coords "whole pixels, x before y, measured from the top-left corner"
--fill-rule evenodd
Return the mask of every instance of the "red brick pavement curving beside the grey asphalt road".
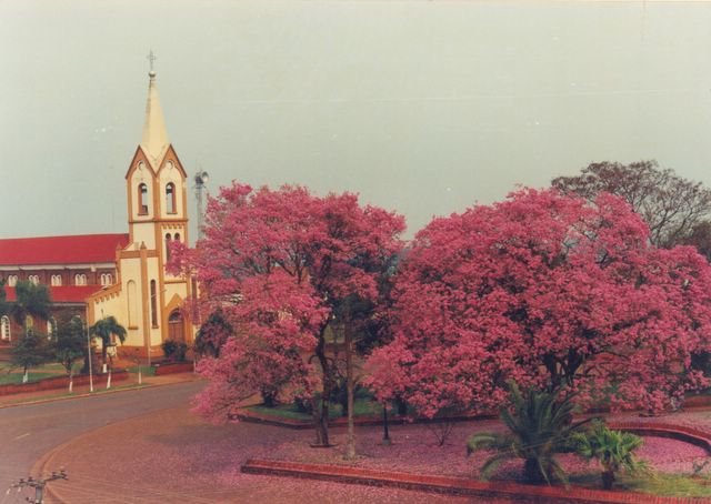
M 397 488 L 342 485 L 241 474 L 250 456 L 312 433 L 249 423 L 214 426 L 187 407 L 109 425 L 47 454 L 33 474 L 64 467 L 68 481 L 48 485 L 50 502 L 82 503 L 269 503 L 444 504 L 470 497 Z M 508 503 L 509 500 L 485 500 Z

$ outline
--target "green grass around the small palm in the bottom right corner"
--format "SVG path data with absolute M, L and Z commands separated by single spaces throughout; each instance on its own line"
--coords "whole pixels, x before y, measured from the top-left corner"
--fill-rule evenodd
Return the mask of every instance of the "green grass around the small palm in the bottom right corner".
M 600 474 L 582 474 L 570 477 L 570 483 L 587 488 L 602 488 Z M 630 476 L 621 474 L 613 490 L 639 492 L 663 497 L 711 497 L 711 478 L 683 474 L 653 474 Z

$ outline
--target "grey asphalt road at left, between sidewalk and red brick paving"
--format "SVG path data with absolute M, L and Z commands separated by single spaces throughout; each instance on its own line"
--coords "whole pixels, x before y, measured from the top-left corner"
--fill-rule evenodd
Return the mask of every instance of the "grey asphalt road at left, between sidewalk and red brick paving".
M 103 425 L 183 405 L 202 386 L 189 382 L 0 410 L 0 503 L 9 498 L 10 483 L 28 476 L 54 446 Z

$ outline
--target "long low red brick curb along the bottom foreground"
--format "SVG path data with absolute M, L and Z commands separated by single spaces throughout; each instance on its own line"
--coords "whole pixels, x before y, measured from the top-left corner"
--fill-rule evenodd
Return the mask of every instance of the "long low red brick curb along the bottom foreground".
M 242 473 L 289 476 L 368 486 L 384 486 L 420 492 L 484 498 L 524 500 L 532 503 L 595 503 L 595 504 L 700 504 L 705 497 L 661 497 L 635 492 L 560 486 L 533 486 L 518 483 L 491 483 L 464 477 L 412 474 L 344 465 L 301 464 L 287 461 L 250 458 Z

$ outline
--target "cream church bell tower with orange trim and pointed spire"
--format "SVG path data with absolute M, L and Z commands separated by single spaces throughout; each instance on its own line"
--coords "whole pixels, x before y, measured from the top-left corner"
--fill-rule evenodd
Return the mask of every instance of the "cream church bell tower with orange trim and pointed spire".
M 196 327 L 184 309 L 190 282 L 166 271 L 171 244 L 188 243 L 188 177 L 168 140 L 152 51 L 149 59 L 141 142 L 126 173 L 129 244 L 117 251 L 118 298 L 111 299 L 108 291 L 99 295 L 97 310 L 122 313 L 128 329 L 122 351 L 138 351 L 150 359 L 160 354 L 166 340 L 192 341 Z

